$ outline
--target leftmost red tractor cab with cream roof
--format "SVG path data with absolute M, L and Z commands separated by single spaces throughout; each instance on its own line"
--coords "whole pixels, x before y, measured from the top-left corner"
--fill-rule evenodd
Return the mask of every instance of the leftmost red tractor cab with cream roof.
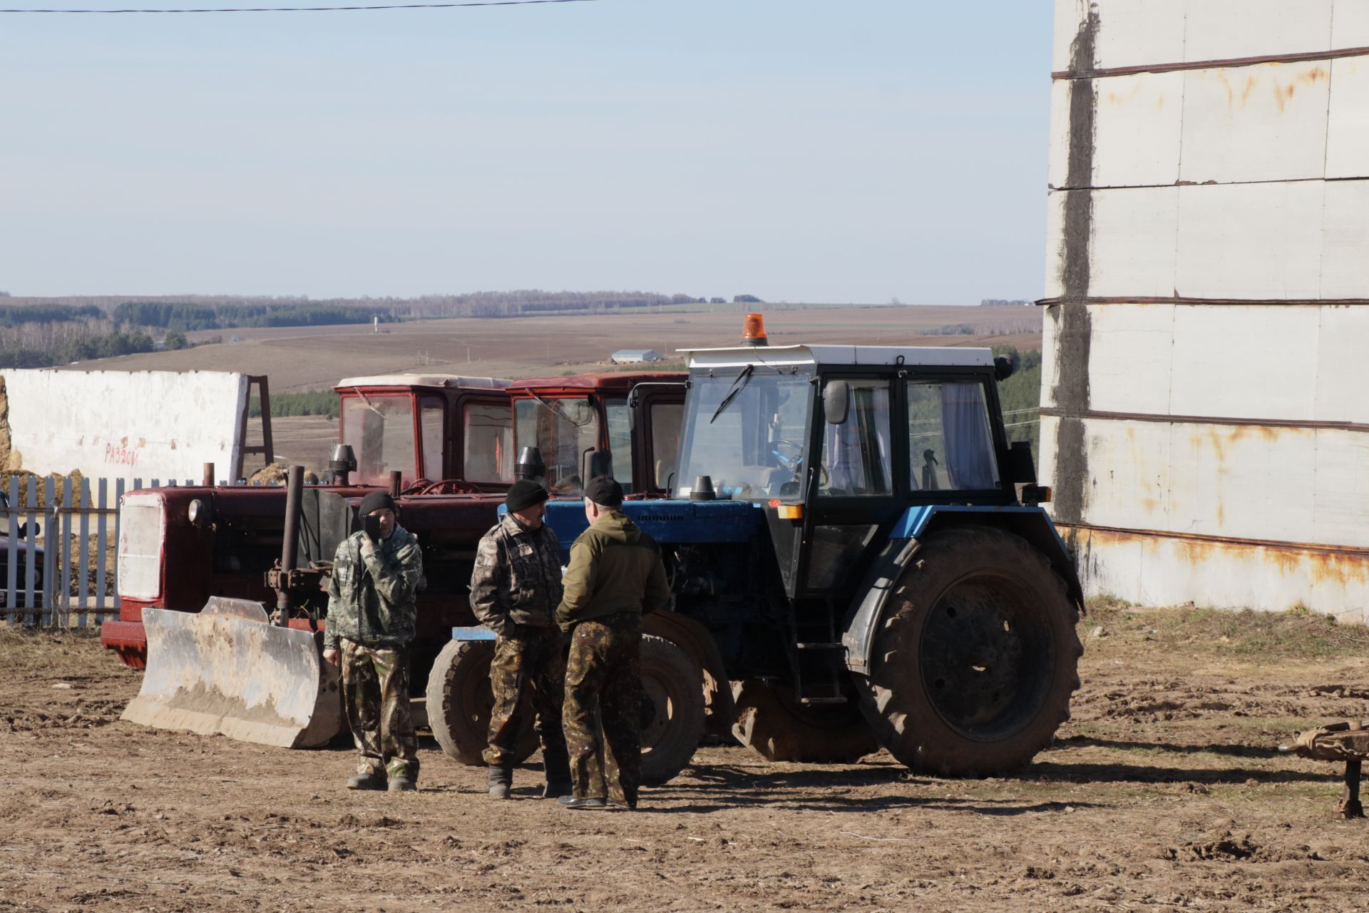
M 338 441 L 352 448 L 353 485 L 402 487 L 461 480 L 497 490 L 513 480 L 508 381 L 396 374 L 348 378 L 340 398 Z

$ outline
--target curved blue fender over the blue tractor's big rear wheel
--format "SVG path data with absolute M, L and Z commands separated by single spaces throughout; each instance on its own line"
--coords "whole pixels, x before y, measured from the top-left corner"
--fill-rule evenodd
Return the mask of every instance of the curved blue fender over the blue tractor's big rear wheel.
M 847 669 L 868 675 L 875 631 L 884 617 L 894 584 L 921 548 L 920 538 L 956 526 L 993 526 L 1025 539 L 1046 556 L 1051 569 L 1065 582 L 1069 598 L 1079 606 L 1080 613 L 1084 612 L 1084 591 L 1079 584 L 1073 557 L 1050 517 L 1039 506 L 938 504 L 908 508 L 890 530 L 888 542 L 875 557 L 846 613 L 842 646 L 846 652 Z

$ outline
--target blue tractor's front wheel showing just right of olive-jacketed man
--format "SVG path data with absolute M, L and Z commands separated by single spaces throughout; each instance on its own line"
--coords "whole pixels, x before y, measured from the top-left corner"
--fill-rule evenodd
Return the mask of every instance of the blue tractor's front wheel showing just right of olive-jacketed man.
M 704 671 L 664 638 L 642 635 L 642 783 L 674 779 L 704 736 Z

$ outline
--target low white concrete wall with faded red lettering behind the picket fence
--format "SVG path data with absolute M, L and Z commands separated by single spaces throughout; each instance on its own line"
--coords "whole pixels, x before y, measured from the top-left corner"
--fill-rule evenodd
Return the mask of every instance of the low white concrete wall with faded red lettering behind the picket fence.
M 227 478 L 242 446 L 242 374 L 216 371 L 4 371 L 11 467 L 40 475 Z M 14 465 L 18 463 L 18 465 Z

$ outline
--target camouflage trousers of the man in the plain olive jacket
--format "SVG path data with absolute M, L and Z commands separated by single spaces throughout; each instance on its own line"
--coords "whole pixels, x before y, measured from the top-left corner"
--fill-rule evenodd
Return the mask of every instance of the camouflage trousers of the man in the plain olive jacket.
M 642 782 L 641 704 L 641 613 L 616 612 L 576 624 L 565 665 L 563 716 L 576 797 L 637 806 Z

